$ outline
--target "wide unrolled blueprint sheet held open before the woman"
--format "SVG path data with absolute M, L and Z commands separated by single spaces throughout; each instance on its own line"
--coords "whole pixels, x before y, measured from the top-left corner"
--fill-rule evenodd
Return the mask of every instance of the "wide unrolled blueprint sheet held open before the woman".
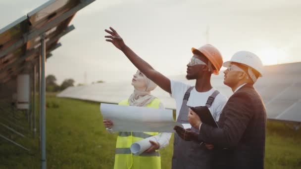
M 112 121 L 112 131 L 175 132 L 174 126 L 183 127 L 168 109 L 101 103 L 100 111 L 103 119 Z

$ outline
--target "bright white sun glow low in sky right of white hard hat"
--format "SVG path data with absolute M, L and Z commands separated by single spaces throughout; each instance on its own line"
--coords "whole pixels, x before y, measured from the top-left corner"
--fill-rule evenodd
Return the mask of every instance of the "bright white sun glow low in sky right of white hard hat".
M 256 52 L 256 54 L 262 60 L 263 65 L 276 65 L 281 62 L 285 62 L 288 58 L 288 54 L 283 49 L 267 48 Z

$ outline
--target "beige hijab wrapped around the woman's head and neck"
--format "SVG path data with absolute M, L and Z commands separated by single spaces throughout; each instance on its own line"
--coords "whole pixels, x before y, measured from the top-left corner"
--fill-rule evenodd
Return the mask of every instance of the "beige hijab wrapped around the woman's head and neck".
M 144 107 L 151 103 L 153 99 L 156 97 L 151 95 L 151 90 L 155 89 L 157 84 L 153 83 L 149 78 L 145 75 L 143 76 L 146 81 L 147 87 L 144 91 L 134 89 L 134 92 L 129 97 L 129 105 L 130 106 L 140 106 Z

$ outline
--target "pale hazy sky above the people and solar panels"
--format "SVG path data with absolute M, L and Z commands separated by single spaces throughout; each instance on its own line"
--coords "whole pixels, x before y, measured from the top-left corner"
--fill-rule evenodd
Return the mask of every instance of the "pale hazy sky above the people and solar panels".
M 0 28 L 47 0 L 0 0 Z M 240 50 L 264 65 L 301 62 L 301 0 L 96 0 L 80 10 L 75 30 L 47 60 L 57 83 L 131 82 L 136 68 L 111 43 L 112 26 L 124 42 L 162 74 L 186 73 L 191 47 L 210 43 L 224 61 Z M 207 34 L 206 34 L 207 32 Z

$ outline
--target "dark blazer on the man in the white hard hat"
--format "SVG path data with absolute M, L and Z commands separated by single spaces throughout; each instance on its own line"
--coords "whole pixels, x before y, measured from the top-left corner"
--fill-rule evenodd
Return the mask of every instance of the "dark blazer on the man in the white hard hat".
M 199 134 L 199 140 L 214 145 L 216 164 L 232 169 L 264 168 L 266 110 L 252 84 L 245 84 L 229 98 L 218 125 L 202 124 Z

